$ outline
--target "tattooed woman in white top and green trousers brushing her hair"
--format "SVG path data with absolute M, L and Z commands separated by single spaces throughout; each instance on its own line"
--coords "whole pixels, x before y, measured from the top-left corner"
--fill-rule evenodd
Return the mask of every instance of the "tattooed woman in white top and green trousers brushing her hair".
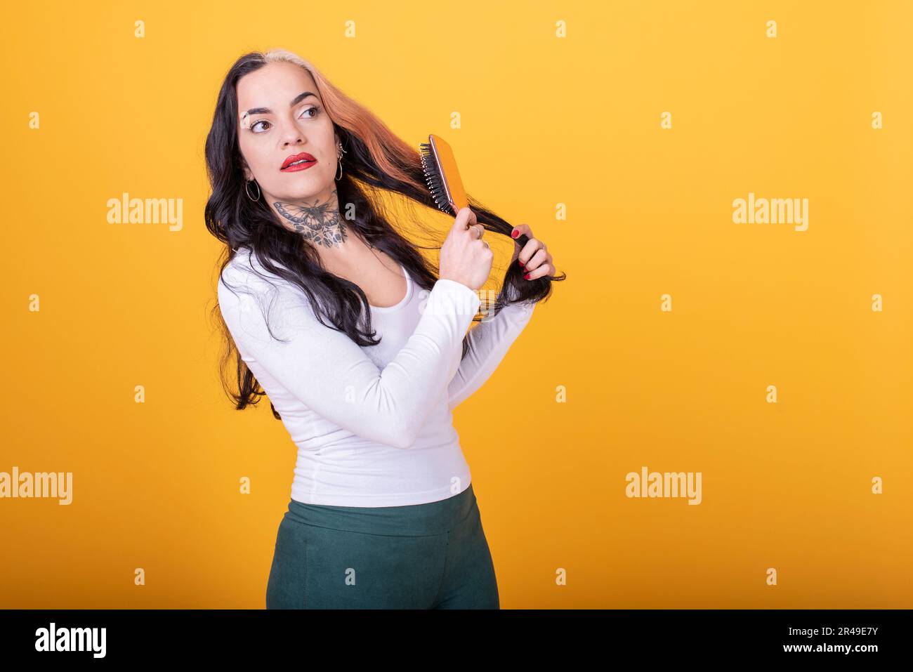
M 287 51 L 236 61 L 205 151 L 226 391 L 237 409 L 268 394 L 298 446 L 267 608 L 498 608 L 451 411 L 550 294 L 545 245 L 470 200 L 435 273 L 377 195 L 433 206 L 419 153 Z M 467 334 L 487 230 L 529 242 Z

